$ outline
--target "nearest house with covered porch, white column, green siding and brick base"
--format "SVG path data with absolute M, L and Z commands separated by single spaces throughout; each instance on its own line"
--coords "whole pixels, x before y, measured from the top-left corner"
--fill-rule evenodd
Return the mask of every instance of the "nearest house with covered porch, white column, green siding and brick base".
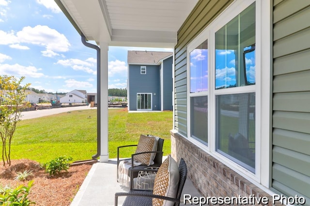
M 56 2 L 82 40 L 100 45 L 100 59 L 109 45 L 174 48 L 171 153 L 203 196 L 277 194 L 298 204 L 296 195 L 310 205 L 309 0 Z M 100 71 L 94 157 L 107 162 L 107 62 Z

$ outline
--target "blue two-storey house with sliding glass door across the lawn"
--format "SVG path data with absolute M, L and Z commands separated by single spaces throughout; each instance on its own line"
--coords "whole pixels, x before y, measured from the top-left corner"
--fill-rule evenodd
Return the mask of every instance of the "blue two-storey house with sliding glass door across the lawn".
M 172 110 L 172 52 L 128 51 L 128 110 Z

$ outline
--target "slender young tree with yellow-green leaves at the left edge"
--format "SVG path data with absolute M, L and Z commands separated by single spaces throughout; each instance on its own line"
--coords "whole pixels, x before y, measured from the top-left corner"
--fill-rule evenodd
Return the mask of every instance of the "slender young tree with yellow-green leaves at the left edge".
M 2 140 L 2 160 L 11 165 L 11 142 L 21 117 L 21 109 L 29 107 L 26 103 L 26 89 L 30 84 L 21 86 L 25 77 L 0 75 L 0 136 Z

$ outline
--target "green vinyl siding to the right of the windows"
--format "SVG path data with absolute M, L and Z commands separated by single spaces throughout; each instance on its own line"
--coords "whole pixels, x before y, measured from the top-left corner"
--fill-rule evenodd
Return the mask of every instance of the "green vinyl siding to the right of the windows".
M 310 1 L 273 1 L 272 188 L 310 205 Z

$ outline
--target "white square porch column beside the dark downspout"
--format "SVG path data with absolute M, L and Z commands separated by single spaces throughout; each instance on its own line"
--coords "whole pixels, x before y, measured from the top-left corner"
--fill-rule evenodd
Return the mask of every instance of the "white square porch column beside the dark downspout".
M 109 160 L 108 51 L 109 45 L 100 42 L 100 162 Z

